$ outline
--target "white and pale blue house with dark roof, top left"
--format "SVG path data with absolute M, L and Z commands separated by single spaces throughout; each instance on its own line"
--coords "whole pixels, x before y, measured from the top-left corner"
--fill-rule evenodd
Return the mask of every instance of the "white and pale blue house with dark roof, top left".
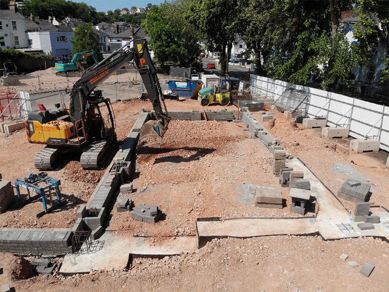
M 26 20 L 29 47 L 43 50 L 46 55 L 69 57 L 73 49 L 73 30 L 66 25 L 53 25 L 52 19 L 33 18 Z

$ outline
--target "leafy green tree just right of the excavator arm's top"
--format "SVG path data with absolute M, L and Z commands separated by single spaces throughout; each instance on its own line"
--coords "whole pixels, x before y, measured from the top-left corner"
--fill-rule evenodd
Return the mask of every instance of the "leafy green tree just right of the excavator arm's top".
M 151 37 L 150 48 L 158 62 L 189 66 L 201 53 L 197 27 L 188 21 L 189 0 L 153 6 L 144 26 Z

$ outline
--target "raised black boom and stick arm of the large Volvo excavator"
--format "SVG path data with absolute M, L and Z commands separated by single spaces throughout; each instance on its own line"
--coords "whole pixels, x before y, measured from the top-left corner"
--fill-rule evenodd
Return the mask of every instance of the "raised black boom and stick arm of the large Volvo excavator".
M 150 53 L 147 48 L 147 40 L 136 39 L 134 40 L 134 48 L 128 48 L 127 45 L 130 41 L 120 49 L 115 50 L 104 60 L 85 71 L 83 76 L 74 84 L 71 90 L 70 101 L 71 119 L 74 123 L 84 121 L 88 98 L 92 91 L 109 76 L 121 69 L 125 64 L 134 60 L 158 120 L 158 122 L 149 123 L 145 128 L 149 128 L 148 131 L 151 131 L 150 133 L 153 137 L 155 136 L 155 133 L 159 136 L 163 136 L 169 124 L 170 117 L 168 116 L 163 101 L 163 94 L 157 77 L 157 70 L 151 61 Z M 165 112 L 162 110 L 161 100 Z M 147 132 L 144 132 L 142 135 L 141 131 L 141 138 L 147 135 Z

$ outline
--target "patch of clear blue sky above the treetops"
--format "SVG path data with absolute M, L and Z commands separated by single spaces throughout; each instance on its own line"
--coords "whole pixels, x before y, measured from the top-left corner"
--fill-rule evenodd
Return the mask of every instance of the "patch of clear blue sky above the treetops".
M 97 11 L 108 11 L 122 9 L 124 7 L 131 8 L 132 6 L 146 7 L 148 3 L 159 4 L 164 0 L 73 0 L 75 2 L 85 2 L 90 6 L 96 7 Z

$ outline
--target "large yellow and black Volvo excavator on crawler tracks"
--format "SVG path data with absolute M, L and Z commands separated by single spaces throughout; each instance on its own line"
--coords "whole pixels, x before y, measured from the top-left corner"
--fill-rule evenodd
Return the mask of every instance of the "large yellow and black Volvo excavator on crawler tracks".
M 68 152 L 81 152 L 80 163 L 85 169 L 101 167 L 103 154 L 116 140 L 114 114 L 108 98 L 102 91 L 95 90 L 110 75 L 125 64 L 134 61 L 143 85 L 147 90 L 155 111 L 152 120 L 141 128 L 140 140 L 163 137 L 170 117 L 163 100 L 157 71 L 151 61 L 146 39 L 134 39 L 133 48 L 127 42 L 104 60 L 89 68 L 74 84 L 70 92 L 70 107 L 33 110 L 25 122 L 30 143 L 46 144 L 35 155 L 34 164 L 38 169 L 52 169 L 58 159 Z M 162 110 L 161 104 L 164 106 Z M 101 106 L 106 106 L 107 118 L 103 117 Z

